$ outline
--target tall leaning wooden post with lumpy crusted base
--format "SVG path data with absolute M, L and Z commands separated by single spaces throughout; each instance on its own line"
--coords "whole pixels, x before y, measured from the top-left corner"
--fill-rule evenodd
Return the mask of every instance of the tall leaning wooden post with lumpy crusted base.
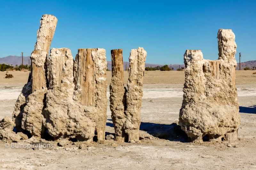
M 57 25 L 53 15 L 43 15 L 37 31 L 35 50 L 31 54 L 31 86 L 32 93 L 26 100 L 22 114 L 21 127 L 39 138 L 44 137 L 46 128 L 44 122 L 45 94 L 49 87 L 47 76 L 47 55 L 52 43 Z

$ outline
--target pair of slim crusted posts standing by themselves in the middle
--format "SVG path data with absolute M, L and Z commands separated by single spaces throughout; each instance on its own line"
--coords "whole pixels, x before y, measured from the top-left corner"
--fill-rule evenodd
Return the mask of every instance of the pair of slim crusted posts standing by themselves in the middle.
M 123 55 L 121 49 L 111 51 L 112 79 L 110 84 L 110 109 L 117 141 L 139 141 L 140 109 L 143 95 L 143 75 L 147 52 L 132 49 L 129 57 L 127 91 L 123 80 Z

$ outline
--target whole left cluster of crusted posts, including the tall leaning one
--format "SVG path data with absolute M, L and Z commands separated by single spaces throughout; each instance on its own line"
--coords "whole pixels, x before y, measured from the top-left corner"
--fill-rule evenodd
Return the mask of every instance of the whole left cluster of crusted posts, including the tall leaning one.
M 28 84 L 13 112 L 17 131 L 36 138 L 50 135 L 54 140 L 76 138 L 87 142 L 92 142 L 96 131 L 98 141 L 104 140 L 106 51 L 79 49 L 74 62 L 70 49 L 52 48 L 47 58 L 56 24 L 57 18 L 52 15 L 41 19 Z

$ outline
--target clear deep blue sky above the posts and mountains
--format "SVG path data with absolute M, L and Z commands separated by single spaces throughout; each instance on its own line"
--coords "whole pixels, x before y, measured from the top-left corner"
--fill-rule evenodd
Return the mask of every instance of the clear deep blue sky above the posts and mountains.
M 58 18 L 51 48 L 143 47 L 146 63 L 182 64 L 186 49 L 218 58 L 218 30 L 232 29 L 241 62 L 256 60 L 256 1 L 2 1 L 0 57 L 28 56 L 34 49 L 43 14 Z

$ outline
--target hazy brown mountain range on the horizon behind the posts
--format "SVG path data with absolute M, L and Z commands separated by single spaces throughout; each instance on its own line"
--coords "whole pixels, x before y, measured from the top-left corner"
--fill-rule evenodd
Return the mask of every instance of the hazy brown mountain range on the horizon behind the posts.
M 27 57 L 23 56 L 23 64 L 24 65 L 28 64 L 29 57 L 30 56 L 27 56 Z M 0 64 L 10 64 L 10 65 L 15 66 L 16 64 L 20 65 L 21 63 L 22 63 L 21 56 L 9 55 L 7 57 L 0 58 Z M 31 63 L 31 61 L 30 61 L 30 63 Z M 112 68 L 111 68 L 111 61 L 108 61 L 107 65 L 108 65 L 108 70 L 112 70 Z M 156 66 L 162 67 L 163 65 L 161 65 L 161 64 L 145 63 L 145 67 L 156 67 Z M 168 66 L 171 67 L 170 65 L 168 65 Z M 129 62 L 124 62 L 124 70 L 125 70 L 125 67 L 126 67 L 126 70 L 128 70 Z M 173 70 L 177 70 L 179 67 L 180 68 L 181 67 L 185 67 L 185 65 L 184 64 L 172 64 Z M 245 67 L 250 67 L 251 69 L 253 67 L 256 67 L 256 60 L 255 61 L 247 61 L 247 62 L 241 63 L 241 70 L 244 69 Z M 239 70 L 239 63 L 237 63 L 236 70 Z

